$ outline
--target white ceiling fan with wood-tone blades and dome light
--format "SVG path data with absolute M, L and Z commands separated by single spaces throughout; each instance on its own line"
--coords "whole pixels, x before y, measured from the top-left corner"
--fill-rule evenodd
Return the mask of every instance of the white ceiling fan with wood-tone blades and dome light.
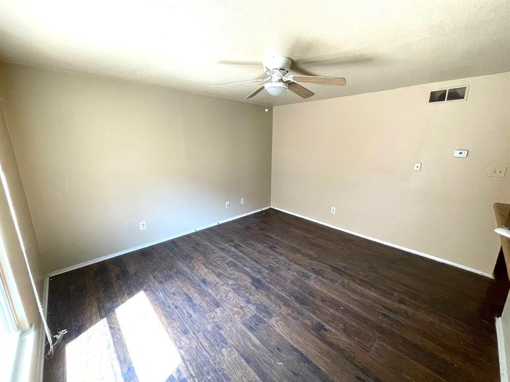
M 248 79 L 245 81 L 236 81 L 226 84 L 213 85 L 211 86 L 211 88 L 226 85 L 244 84 L 249 82 L 262 82 L 265 84 L 261 85 L 257 90 L 250 93 L 244 99 L 254 97 L 263 90 L 266 90 L 272 96 L 279 96 L 284 94 L 287 89 L 293 93 L 296 93 L 298 96 L 302 98 L 309 98 L 313 96 L 314 93 L 308 90 L 307 88 L 304 88 L 301 85 L 299 85 L 298 82 L 337 86 L 344 86 L 346 84 L 345 78 L 341 77 L 324 77 L 295 74 L 287 75 L 290 72 L 291 65 L 292 59 L 288 57 L 283 56 L 266 57 L 262 61 L 262 66 L 264 67 L 264 72 L 267 74 L 267 78 Z

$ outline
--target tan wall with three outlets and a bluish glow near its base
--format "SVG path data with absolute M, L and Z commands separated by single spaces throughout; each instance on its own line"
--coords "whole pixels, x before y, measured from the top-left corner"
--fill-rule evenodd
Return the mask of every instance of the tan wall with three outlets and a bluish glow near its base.
M 46 271 L 270 203 L 264 107 L 11 64 L 0 83 Z

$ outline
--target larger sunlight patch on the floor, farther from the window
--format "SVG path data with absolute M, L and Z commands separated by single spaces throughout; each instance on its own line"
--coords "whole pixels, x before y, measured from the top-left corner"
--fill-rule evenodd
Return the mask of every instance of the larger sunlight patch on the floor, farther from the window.
M 131 297 L 115 313 L 139 382 L 164 382 L 182 360 L 145 293 Z

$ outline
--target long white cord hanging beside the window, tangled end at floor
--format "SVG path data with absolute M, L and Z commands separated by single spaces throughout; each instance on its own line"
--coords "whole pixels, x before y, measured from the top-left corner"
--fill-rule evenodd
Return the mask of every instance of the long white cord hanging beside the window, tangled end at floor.
M 9 192 L 9 186 L 7 184 L 7 179 L 4 174 L 4 170 L 2 169 L 2 165 L 0 164 L 0 178 L 2 178 L 2 185 L 4 186 L 5 195 L 7 197 L 7 203 L 9 204 L 9 210 L 11 212 L 12 220 L 14 222 L 14 228 L 16 229 L 16 234 L 18 235 L 19 245 L 21 247 L 21 252 L 23 252 L 23 257 L 25 259 L 25 264 L 27 264 L 27 270 L 29 271 L 30 283 L 32 284 L 32 289 L 34 290 L 34 295 L 37 303 L 37 307 L 39 308 L 39 314 L 41 315 L 42 325 L 44 327 L 44 331 L 46 332 L 46 338 L 49 343 L 49 350 L 46 354 L 46 359 L 53 357 L 53 350 L 55 347 L 62 341 L 62 337 L 67 333 L 67 330 L 61 330 L 58 332 L 56 336 L 55 343 L 52 340 L 52 333 L 49 331 L 48 324 L 46 322 L 46 318 L 44 317 L 44 310 L 42 308 L 41 300 L 39 299 L 39 294 L 37 293 L 37 288 L 35 286 L 34 277 L 32 276 L 32 271 L 30 270 L 29 259 L 27 258 L 27 252 L 25 251 L 25 245 L 23 244 L 23 237 L 21 236 L 21 231 L 18 225 L 18 219 L 16 217 L 16 211 L 14 210 L 14 205 L 12 204 L 11 193 Z M 46 344 L 44 345 L 46 347 Z

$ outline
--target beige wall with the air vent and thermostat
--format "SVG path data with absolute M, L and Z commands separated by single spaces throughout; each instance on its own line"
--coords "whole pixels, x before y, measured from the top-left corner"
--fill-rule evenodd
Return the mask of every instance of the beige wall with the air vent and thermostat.
M 467 101 L 427 103 L 458 85 Z M 492 274 L 510 171 L 487 174 L 510 166 L 510 73 L 277 106 L 272 151 L 273 206 Z

